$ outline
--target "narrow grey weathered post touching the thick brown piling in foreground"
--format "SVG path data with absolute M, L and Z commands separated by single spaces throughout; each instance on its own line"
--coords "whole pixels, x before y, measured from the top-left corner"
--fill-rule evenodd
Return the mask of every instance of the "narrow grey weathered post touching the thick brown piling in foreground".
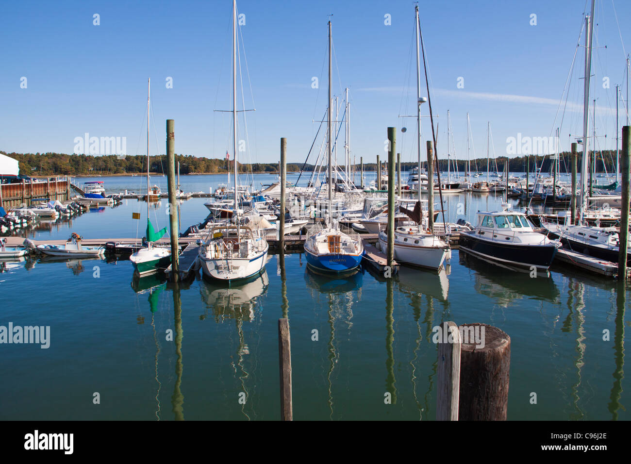
M 436 420 L 458 420 L 460 391 L 460 351 L 463 343 L 456 323 L 440 324 L 438 342 L 438 386 Z

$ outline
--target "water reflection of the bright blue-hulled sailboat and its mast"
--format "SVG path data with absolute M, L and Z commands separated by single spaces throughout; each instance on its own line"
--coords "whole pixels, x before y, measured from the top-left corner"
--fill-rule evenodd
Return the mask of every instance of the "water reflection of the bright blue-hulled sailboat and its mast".
M 305 270 L 305 283 L 311 290 L 314 300 L 319 295 L 324 295 L 327 300 L 327 322 L 329 323 L 330 336 L 327 343 L 329 366 L 326 372 L 328 405 L 331 411 L 329 418 L 333 419 L 333 371 L 339 364 L 339 342 L 336 342 L 336 322 L 346 324 L 346 336 L 343 339 L 350 340 L 350 332 L 353 327 L 353 303 L 362 299 L 363 270 L 360 268 L 355 273 L 346 275 L 322 275 L 307 266 Z M 355 296 L 357 292 L 357 297 Z M 348 391 L 348 384 L 346 385 Z

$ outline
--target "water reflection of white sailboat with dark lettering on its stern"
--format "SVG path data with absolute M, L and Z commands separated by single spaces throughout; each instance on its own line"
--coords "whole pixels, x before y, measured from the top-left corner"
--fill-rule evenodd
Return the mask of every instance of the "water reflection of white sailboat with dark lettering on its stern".
M 205 278 L 202 278 L 201 282 L 199 282 L 201 299 L 209 310 L 201 314 L 199 319 L 204 320 L 208 318 L 210 312 L 216 323 L 221 324 L 234 321 L 237 326 L 239 345 L 236 349 L 236 360 L 233 355 L 230 355 L 232 359 L 230 371 L 235 381 L 239 381 L 240 391 L 245 393 L 247 401 L 242 403 L 241 412 L 248 420 L 256 419 L 255 402 L 249 401 L 249 398 L 254 396 L 254 389 L 259 381 L 257 381 L 252 369 L 250 371 L 246 369 L 245 356 L 249 355 L 251 351 L 249 345 L 245 342 L 244 323 L 256 324 L 251 331 L 259 335 L 260 341 L 261 331 L 259 330 L 259 323 L 262 320 L 262 297 L 268 291 L 268 286 L 269 277 L 265 268 L 261 274 L 246 279 L 244 283 L 236 286 L 234 284 L 230 285 L 229 281 L 222 282 Z M 232 340 L 232 336 L 230 340 Z M 256 358 L 252 359 L 250 362 L 251 366 L 256 367 L 256 362 Z M 237 374 L 237 371 L 240 371 L 240 373 Z M 221 377 L 221 374 L 219 376 Z M 246 386 L 245 381 L 247 379 L 249 379 L 251 386 Z

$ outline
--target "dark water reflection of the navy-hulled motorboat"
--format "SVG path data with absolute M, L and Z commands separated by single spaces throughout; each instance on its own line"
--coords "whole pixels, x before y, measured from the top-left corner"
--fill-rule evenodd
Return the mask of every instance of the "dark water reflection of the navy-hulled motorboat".
M 536 277 L 524 273 L 507 272 L 466 253 L 459 253 L 460 264 L 475 271 L 475 289 L 482 295 L 507 307 L 513 300 L 531 298 L 553 303 L 560 302 L 560 292 L 549 273 L 538 272 Z

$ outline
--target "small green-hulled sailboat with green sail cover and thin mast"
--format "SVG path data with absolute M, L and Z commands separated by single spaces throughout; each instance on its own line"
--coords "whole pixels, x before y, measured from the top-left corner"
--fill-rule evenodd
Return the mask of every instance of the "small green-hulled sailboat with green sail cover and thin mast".
M 129 261 L 134 266 L 134 270 L 139 276 L 150 275 L 156 273 L 160 269 L 166 269 L 171 263 L 171 251 L 165 247 L 153 246 L 153 242 L 156 242 L 162 238 L 162 235 L 167 233 L 167 228 L 158 230 L 156 232 L 151 225 L 151 219 L 149 217 L 149 199 L 150 199 L 150 186 L 149 186 L 149 104 L 151 98 L 151 79 L 147 85 L 147 229 L 144 237 L 146 246 L 136 251 L 129 257 Z

